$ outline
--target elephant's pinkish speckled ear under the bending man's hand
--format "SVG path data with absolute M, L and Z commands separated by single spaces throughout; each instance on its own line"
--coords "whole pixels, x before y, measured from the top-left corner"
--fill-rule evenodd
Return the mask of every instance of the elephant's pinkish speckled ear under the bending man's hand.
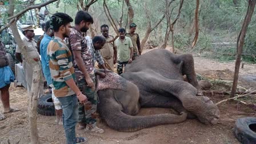
M 107 73 L 105 78 L 101 78 L 99 77 L 99 75 L 97 75 L 96 77 L 96 91 L 106 89 L 127 91 L 127 80 L 116 73 Z

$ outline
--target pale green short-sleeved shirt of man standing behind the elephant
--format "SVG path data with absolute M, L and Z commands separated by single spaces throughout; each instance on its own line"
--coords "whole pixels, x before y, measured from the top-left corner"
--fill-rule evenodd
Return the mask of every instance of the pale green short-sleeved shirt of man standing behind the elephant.
M 133 43 L 129 37 L 125 37 L 123 42 L 118 39 L 115 39 L 114 46 L 117 47 L 117 61 L 127 62 L 130 59 L 130 49 L 133 49 Z

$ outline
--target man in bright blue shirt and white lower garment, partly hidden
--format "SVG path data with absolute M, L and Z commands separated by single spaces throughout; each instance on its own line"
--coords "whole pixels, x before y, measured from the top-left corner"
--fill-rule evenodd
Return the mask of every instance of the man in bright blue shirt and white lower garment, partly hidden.
M 61 103 L 59 102 L 58 98 L 55 97 L 53 93 L 53 82 L 51 81 L 51 73 L 49 68 L 49 59 L 50 57 L 47 56 L 47 46 L 51 41 L 51 37 L 53 37 L 54 33 L 50 29 L 50 21 L 45 23 L 45 34 L 43 35 L 42 42 L 40 43 L 40 54 L 41 54 L 41 61 L 42 61 L 42 69 L 43 75 L 45 76 L 47 86 L 51 87 L 51 98 L 53 99 L 55 113 L 56 113 L 56 123 L 62 124 L 62 109 Z

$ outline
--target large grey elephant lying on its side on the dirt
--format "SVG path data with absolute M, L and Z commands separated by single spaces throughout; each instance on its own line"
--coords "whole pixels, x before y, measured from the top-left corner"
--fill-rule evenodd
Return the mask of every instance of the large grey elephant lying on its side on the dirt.
M 147 127 L 181 123 L 198 118 L 217 123 L 220 112 L 202 96 L 191 54 L 176 55 L 168 50 L 151 50 L 126 65 L 125 73 L 97 77 L 98 113 L 111 129 L 138 131 Z M 186 75 L 187 81 L 183 81 Z M 175 114 L 136 116 L 141 107 L 164 107 Z

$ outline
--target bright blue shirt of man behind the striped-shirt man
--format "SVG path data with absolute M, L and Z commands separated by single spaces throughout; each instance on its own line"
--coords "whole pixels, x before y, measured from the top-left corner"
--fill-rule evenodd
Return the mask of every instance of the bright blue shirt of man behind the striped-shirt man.
M 45 75 L 45 79 L 47 81 L 48 86 L 52 83 L 51 73 L 49 68 L 50 58 L 47 56 L 47 47 L 50 41 L 51 41 L 51 37 L 45 34 L 43 35 L 43 39 L 40 43 L 40 55 L 41 55 L 41 61 L 42 61 L 43 75 Z

